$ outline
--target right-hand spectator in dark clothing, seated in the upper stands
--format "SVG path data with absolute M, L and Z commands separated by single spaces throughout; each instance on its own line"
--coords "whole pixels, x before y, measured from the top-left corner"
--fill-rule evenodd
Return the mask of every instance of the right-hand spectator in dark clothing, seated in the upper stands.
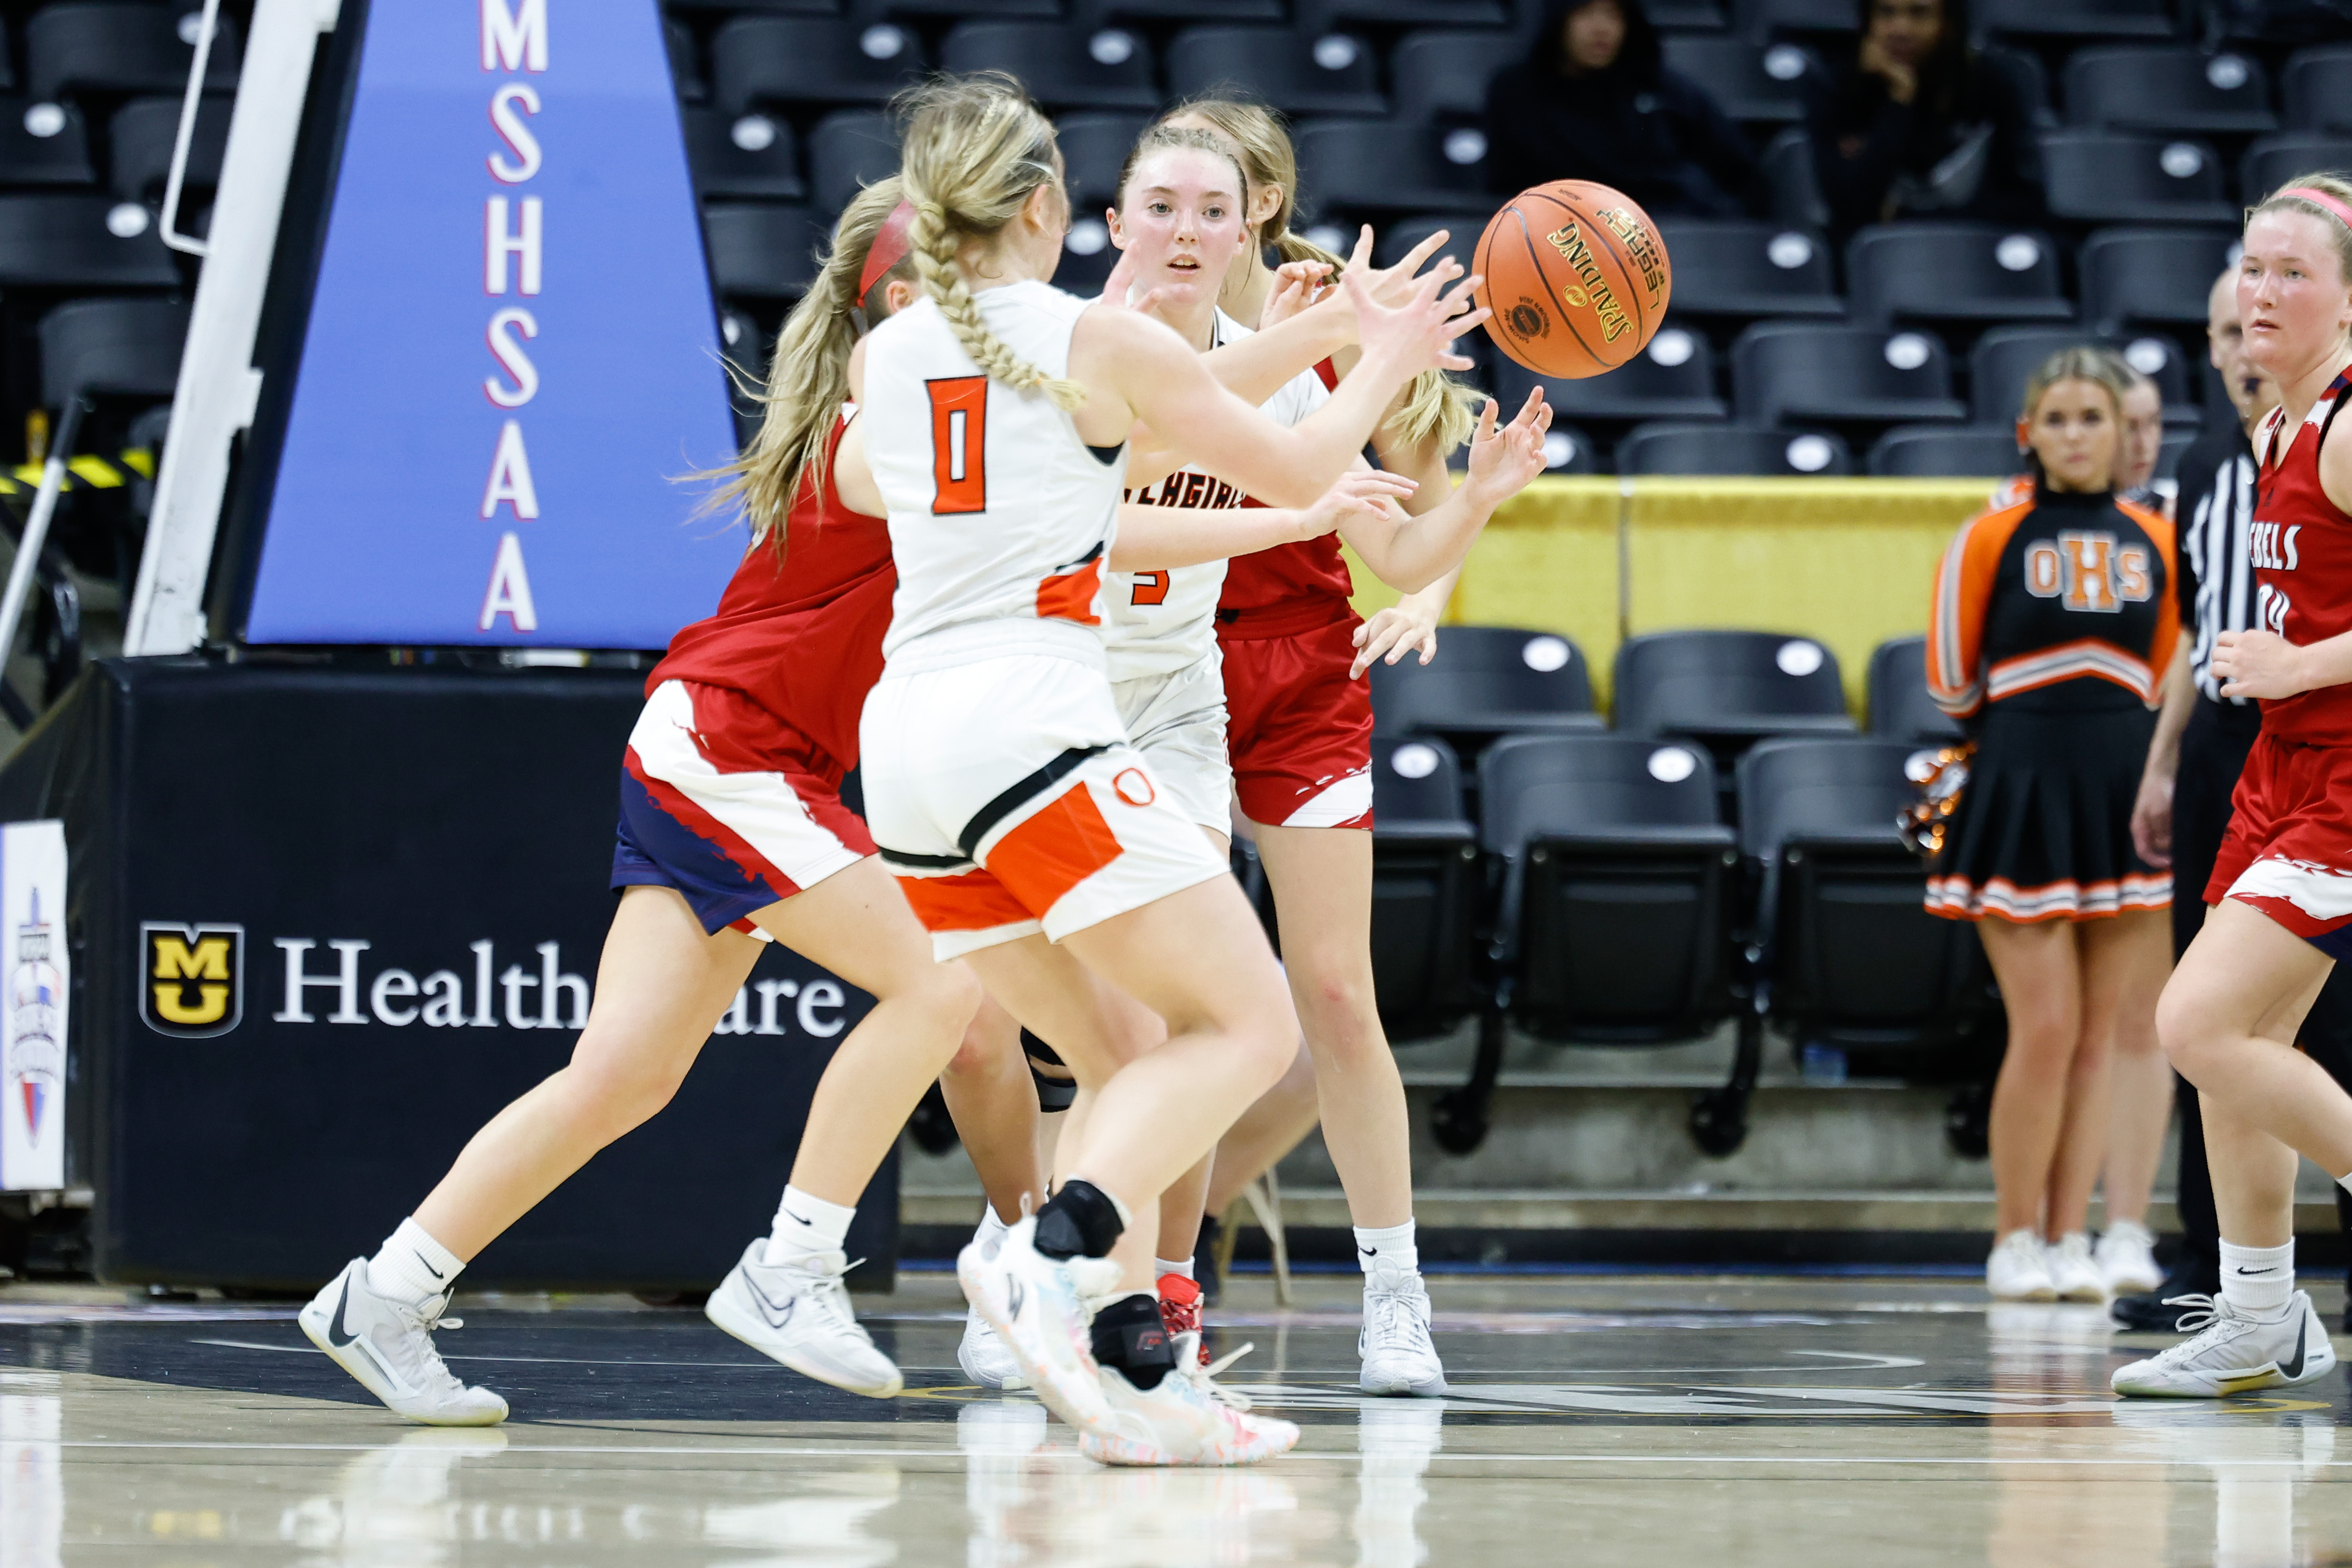
M 1858 0 L 1851 66 L 1806 73 L 1806 134 L 1837 237 L 1905 216 L 2044 216 L 2034 89 L 1969 47 L 1966 0 Z

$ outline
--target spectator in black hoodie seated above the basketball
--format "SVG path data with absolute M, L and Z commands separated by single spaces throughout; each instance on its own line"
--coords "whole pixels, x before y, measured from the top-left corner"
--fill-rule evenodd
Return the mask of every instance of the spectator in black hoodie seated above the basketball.
M 1529 59 L 1486 85 L 1486 179 L 1623 190 L 1651 216 L 1745 212 L 1757 155 L 1715 99 L 1668 71 L 1639 0 L 1548 0 Z

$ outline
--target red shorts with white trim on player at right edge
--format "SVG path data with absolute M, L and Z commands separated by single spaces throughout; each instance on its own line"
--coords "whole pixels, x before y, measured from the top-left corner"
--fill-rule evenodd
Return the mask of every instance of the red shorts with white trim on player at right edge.
M 2352 957 L 2352 745 L 2256 736 L 2206 882 L 2206 903 L 2223 898 Z

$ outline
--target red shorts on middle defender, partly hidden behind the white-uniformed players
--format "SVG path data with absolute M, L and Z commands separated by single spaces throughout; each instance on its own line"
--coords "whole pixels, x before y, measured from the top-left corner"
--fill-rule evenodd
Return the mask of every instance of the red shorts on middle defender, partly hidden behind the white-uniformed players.
M 1348 679 L 1362 621 L 1336 614 L 1275 637 L 1251 635 L 1247 614 L 1216 628 L 1232 792 L 1251 823 L 1371 827 L 1371 684 Z

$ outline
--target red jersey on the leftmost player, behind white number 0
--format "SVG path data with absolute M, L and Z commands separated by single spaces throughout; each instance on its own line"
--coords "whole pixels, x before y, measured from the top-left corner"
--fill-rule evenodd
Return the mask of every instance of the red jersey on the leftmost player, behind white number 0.
M 743 552 L 720 609 L 670 639 L 670 654 L 647 677 L 729 686 L 776 715 L 830 757 L 842 773 L 858 762 L 858 715 L 882 679 L 882 632 L 889 630 L 898 574 L 889 527 L 842 505 L 833 487 L 849 418 L 826 444 L 826 484 L 802 482 L 783 522 L 783 557 L 771 541 Z

